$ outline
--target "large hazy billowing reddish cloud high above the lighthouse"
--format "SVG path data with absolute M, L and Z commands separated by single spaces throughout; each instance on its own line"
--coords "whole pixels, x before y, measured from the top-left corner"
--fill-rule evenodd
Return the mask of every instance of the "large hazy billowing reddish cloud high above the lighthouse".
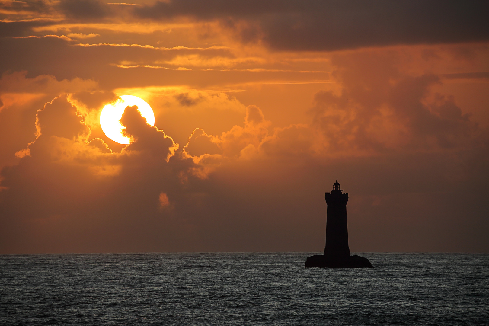
M 334 57 L 341 90 L 316 93 L 311 109 L 312 127 L 328 151 L 460 149 L 477 138 L 476 125 L 454 98 L 432 90 L 440 77 L 405 74 L 382 61 L 381 51 L 353 56 L 358 69 L 342 68 L 349 55 Z

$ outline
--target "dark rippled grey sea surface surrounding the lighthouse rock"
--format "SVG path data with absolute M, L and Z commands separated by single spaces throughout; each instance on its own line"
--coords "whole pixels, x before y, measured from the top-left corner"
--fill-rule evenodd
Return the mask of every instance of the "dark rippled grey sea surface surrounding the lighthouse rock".
M 0 256 L 0 325 L 489 325 L 489 254 Z

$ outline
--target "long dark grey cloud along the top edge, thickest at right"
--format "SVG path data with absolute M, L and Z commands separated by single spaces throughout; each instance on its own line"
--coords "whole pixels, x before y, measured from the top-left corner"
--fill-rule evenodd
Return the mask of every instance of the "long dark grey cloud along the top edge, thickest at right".
M 338 50 L 363 46 L 456 43 L 489 39 L 487 1 L 156 1 L 134 8 L 141 18 L 190 16 L 240 20 L 243 39 L 262 37 L 282 50 Z

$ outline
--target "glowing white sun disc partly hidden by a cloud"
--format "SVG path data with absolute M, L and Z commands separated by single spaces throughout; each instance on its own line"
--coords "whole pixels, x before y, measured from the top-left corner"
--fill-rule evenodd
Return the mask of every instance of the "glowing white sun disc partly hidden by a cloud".
M 139 112 L 141 112 L 141 116 L 146 118 L 146 122 L 152 126 L 155 125 L 155 113 L 146 101 L 137 96 L 122 95 L 119 97 L 115 103 L 107 104 L 100 112 L 100 126 L 106 136 L 113 141 L 119 144 L 129 144 L 129 137 L 122 135 L 124 127 L 119 122 L 124 109 L 127 106 L 136 105 Z

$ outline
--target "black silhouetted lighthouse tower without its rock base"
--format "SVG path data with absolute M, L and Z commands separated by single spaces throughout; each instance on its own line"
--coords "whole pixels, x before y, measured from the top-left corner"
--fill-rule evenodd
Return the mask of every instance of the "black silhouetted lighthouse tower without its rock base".
M 326 246 L 324 256 L 333 260 L 350 257 L 348 246 L 348 224 L 346 221 L 346 204 L 348 194 L 340 189 L 338 180 L 333 184 L 331 193 L 326 193 L 328 213 L 326 215 Z

